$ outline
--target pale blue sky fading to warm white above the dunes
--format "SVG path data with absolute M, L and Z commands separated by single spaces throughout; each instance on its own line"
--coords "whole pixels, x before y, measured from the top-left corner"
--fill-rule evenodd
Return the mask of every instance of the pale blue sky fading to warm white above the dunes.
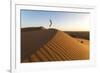
M 21 28 L 40 27 L 62 31 L 89 31 L 90 14 L 79 12 L 21 10 Z

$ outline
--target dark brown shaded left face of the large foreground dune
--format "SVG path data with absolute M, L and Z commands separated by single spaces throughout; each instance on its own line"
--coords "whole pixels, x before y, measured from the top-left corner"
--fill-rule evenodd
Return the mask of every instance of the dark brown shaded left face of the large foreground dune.
M 23 61 L 45 45 L 57 31 L 44 28 L 23 28 L 21 32 L 21 59 Z

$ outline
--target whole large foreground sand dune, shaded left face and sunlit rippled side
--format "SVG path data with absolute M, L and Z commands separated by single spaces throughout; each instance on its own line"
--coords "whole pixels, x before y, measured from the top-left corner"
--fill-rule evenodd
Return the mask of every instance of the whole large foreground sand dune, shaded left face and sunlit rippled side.
M 89 48 L 60 30 L 21 32 L 21 62 L 89 59 Z

